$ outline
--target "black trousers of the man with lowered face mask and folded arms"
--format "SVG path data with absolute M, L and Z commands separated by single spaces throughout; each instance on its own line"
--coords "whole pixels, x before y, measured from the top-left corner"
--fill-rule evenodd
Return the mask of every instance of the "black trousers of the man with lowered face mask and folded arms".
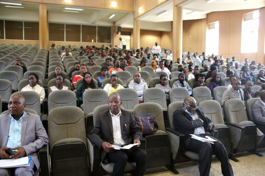
M 210 135 L 209 135 L 210 136 Z M 215 139 L 213 136 L 211 138 Z M 214 144 L 201 142 L 191 139 L 187 150 L 198 153 L 200 156 L 199 171 L 200 175 L 209 175 L 211 168 L 212 154 L 221 161 L 222 174 L 225 176 L 234 175 L 231 164 L 229 163 L 226 148 L 218 139 Z

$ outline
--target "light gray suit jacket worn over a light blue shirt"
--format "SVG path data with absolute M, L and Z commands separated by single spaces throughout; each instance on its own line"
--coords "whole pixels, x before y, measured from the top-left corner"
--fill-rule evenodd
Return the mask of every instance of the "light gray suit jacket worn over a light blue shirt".
M 21 146 L 25 149 L 26 156 L 32 157 L 32 161 L 39 169 L 39 159 L 36 151 L 43 145 L 48 144 L 49 139 L 41 123 L 41 118 L 30 112 L 24 113 L 21 128 Z M 10 121 L 10 113 L 0 115 L 0 148 L 7 145 Z

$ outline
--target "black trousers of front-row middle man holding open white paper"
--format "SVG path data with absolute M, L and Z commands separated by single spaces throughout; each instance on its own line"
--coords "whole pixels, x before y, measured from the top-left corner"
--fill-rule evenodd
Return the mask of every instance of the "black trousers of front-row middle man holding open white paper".
M 144 175 L 147 162 L 147 154 L 143 149 L 130 148 L 129 150 L 112 150 L 107 153 L 107 158 L 114 163 L 112 175 L 123 175 L 127 161 L 136 162 L 135 176 Z

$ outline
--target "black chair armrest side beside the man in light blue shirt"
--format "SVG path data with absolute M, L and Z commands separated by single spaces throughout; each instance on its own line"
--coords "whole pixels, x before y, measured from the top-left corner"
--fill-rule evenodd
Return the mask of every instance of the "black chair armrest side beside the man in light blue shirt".
M 39 149 L 39 163 L 42 175 L 50 175 L 50 156 L 49 156 L 49 146 L 44 145 Z

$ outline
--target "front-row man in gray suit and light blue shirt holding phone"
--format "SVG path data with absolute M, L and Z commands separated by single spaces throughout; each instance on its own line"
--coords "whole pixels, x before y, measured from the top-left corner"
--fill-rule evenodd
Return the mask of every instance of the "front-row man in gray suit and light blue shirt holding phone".
M 8 110 L 10 113 L 0 115 L 0 159 L 17 159 L 24 156 L 32 157 L 30 166 L 0 169 L 0 175 L 33 175 L 39 169 L 36 153 L 43 145 L 48 144 L 47 133 L 38 115 L 24 112 L 25 98 L 16 94 L 10 97 Z M 5 150 L 11 148 L 14 155 Z

